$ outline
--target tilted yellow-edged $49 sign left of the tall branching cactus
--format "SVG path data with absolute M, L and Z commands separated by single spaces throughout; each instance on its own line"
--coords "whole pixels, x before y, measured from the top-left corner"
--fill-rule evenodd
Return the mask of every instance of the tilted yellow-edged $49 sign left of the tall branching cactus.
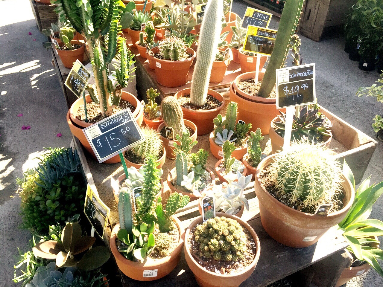
M 77 98 L 82 96 L 92 74 L 81 64 L 79 60 L 74 62 L 72 69 L 65 80 L 65 86 L 71 90 Z

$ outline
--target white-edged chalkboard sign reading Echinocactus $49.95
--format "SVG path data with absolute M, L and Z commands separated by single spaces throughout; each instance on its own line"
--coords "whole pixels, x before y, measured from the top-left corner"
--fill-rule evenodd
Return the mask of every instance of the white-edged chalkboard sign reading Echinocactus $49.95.
M 315 103 L 315 64 L 275 70 L 277 108 Z

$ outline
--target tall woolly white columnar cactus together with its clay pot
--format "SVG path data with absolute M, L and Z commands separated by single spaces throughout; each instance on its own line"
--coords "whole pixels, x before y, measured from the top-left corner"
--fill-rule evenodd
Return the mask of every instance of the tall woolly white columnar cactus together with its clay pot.
M 222 9 L 223 0 L 208 2 L 198 40 L 197 60 L 191 88 L 175 94 L 181 103 L 185 119 L 196 124 L 198 135 L 205 135 L 213 130 L 213 119 L 225 104 L 221 94 L 208 89 L 211 69 L 219 44 L 219 35 L 221 34 Z

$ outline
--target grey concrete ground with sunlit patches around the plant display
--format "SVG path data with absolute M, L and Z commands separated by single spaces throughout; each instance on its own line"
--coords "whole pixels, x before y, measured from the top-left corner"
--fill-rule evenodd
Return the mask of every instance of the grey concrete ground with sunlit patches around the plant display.
M 246 6 L 234 0 L 233 11 L 242 17 Z M 270 28 L 277 26 L 273 18 Z M 20 198 L 15 178 L 33 165 L 33 158 L 44 147 L 69 146 L 71 140 L 51 52 L 42 46 L 45 40 L 27 0 L 0 0 L 0 286 L 17 286 L 11 282 L 13 256 L 18 246 L 25 249 L 30 238 L 28 231 L 18 228 Z M 319 104 L 375 137 L 371 119 L 382 113 L 382 105 L 372 98 L 357 98 L 355 91 L 373 84 L 378 74 L 359 70 L 343 47 L 343 38 L 314 42 L 302 37 L 301 54 L 305 63 L 316 63 Z M 31 128 L 22 130 L 23 125 Z M 58 133 L 62 136 L 57 137 Z M 378 142 L 365 175 L 371 174 L 372 182 L 383 179 L 382 152 L 383 144 Z M 372 218 L 383 220 L 382 210 L 383 198 L 376 202 Z M 383 280 L 370 270 L 347 286 L 378 287 Z

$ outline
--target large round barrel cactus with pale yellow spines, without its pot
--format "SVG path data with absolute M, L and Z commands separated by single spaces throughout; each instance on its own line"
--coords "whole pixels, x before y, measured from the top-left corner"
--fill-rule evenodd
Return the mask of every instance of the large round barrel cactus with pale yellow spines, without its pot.
M 311 208 L 319 201 L 330 202 L 341 190 L 340 164 L 326 147 L 292 143 L 274 159 L 272 180 L 278 195 L 285 196 L 290 205 Z

